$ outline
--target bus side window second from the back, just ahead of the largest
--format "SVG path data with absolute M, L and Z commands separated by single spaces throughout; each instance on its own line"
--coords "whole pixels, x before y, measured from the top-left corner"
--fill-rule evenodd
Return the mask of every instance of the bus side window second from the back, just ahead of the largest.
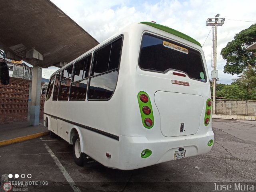
M 85 100 L 91 58 L 92 55 L 75 63 L 73 81 L 70 88 L 70 100 Z

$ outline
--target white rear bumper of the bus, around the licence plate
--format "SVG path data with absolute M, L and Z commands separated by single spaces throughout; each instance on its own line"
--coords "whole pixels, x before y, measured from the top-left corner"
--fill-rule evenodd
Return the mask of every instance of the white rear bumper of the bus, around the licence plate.
M 161 162 L 174 160 L 174 152 L 180 147 L 186 150 L 186 157 L 206 154 L 212 146 L 208 146 L 209 140 L 214 140 L 214 133 L 208 131 L 205 135 L 198 133 L 190 136 L 166 138 L 161 141 L 149 141 L 145 137 L 120 136 L 120 151 L 118 169 L 132 170 Z M 148 149 L 152 154 L 142 158 L 143 150 Z

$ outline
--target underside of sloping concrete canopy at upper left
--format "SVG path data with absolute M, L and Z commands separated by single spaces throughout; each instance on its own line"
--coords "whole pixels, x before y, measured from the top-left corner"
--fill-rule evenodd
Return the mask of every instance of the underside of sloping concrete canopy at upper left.
M 50 0 L 0 0 L 0 49 L 33 66 L 60 66 L 98 44 Z

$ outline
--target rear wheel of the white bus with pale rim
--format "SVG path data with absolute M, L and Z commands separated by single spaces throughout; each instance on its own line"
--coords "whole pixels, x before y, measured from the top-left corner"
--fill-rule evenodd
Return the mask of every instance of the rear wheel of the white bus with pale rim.
M 77 165 L 83 166 L 84 164 L 84 154 L 81 152 L 80 138 L 76 134 L 73 139 L 73 158 Z

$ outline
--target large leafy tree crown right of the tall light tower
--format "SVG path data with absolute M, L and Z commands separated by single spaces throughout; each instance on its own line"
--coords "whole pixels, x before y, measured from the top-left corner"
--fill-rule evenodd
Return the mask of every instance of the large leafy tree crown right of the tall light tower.
M 224 73 L 241 74 L 246 66 L 256 66 L 256 50 L 246 50 L 246 47 L 254 42 L 256 42 L 256 24 L 237 33 L 234 40 L 228 42 L 220 52 L 226 60 Z

